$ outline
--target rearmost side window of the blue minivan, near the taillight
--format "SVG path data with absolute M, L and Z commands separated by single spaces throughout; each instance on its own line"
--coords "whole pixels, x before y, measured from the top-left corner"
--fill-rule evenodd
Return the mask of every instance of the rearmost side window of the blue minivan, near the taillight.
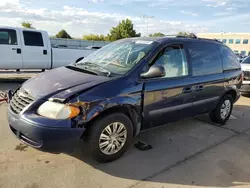
M 235 70 L 240 68 L 239 60 L 236 55 L 226 46 L 220 46 L 220 53 L 223 62 L 223 68 L 227 70 Z

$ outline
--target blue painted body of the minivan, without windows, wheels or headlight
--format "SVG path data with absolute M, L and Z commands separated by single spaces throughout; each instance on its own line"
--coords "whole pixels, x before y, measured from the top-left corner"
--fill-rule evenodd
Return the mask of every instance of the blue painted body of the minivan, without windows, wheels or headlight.
M 12 132 L 36 148 L 60 148 L 79 140 L 89 122 L 112 109 L 126 108 L 131 112 L 136 136 L 141 130 L 208 113 L 229 91 L 235 93 L 235 101 L 239 98 L 241 70 L 194 77 L 189 58 L 188 76 L 141 79 L 140 74 L 148 70 L 149 62 L 163 47 L 175 43 L 185 46 L 186 42 L 198 39 L 150 40 L 155 40 L 157 45 L 123 76 L 96 76 L 61 67 L 28 80 L 22 89 L 35 100 L 19 114 L 14 113 L 9 105 L 8 120 Z M 203 89 L 196 90 L 201 84 Z M 183 92 L 186 87 L 191 87 L 192 92 Z M 84 113 L 73 120 L 52 120 L 37 114 L 38 107 L 49 98 L 62 103 L 84 102 L 89 107 L 84 109 L 82 106 Z

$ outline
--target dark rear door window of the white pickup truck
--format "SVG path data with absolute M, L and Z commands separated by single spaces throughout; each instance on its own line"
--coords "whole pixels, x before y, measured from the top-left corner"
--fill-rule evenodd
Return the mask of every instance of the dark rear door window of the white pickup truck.
M 25 46 L 43 46 L 43 37 L 40 32 L 23 31 Z

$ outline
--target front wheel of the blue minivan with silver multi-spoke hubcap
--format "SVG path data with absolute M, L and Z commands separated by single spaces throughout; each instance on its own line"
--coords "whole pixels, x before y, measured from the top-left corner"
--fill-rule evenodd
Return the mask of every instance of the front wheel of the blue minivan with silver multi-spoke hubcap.
M 110 136 L 107 139 L 107 135 L 109 135 L 108 131 L 110 132 L 111 130 L 111 135 L 115 132 L 115 122 L 117 122 L 118 124 L 116 124 L 117 128 L 116 128 L 116 133 L 118 135 L 123 133 L 122 137 L 112 137 Z M 122 113 L 114 113 L 114 114 L 110 114 L 108 116 L 104 116 L 101 117 L 99 119 L 97 119 L 95 122 L 93 122 L 92 125 L 90 125 L 90 132 L 89 132 L 89 137 L 88 137 L 88 144 L 89 144 L 89 148 L 90 148 L 90 152 L 93 156 L 93 158 L 101 163 L 106 163 L 106 162 L 111 162 L 114 161 L 118 158 L 120 158 L 127 150 L 127 148 L 129 147 L 129 145 L 131 144 L 132 140 L 133 140 L 133 125 L 132 122 L 130 121 L 130 119 L 122 114 Z M 110 129 L 108 129 L 108 127 Z M 124 129 L 122 129 L 119 132 L 119 128 L 124 127 Z M 124 130 L 126 130 L 126 132 L 124 133 Z M 105 139 L 102 140 L 101 139 L 101 134 L 105 135 Z M 116 140 L 115 138 L 119 139 L 119 140 L 123 140 L 123 142 L 118 142 L 118 140 Z M 125 140 L 125 141 L 124 141 Z M 105 143 L 104 143 L 105 142 Z M 107 145 L 108 142 L 108 145 Z M 118 143 L 119 144 L 118 144 Z M 103 148 L 101 148 L 100 143 L 102 143 L 104 146 Z M 108 149 L 108 147 L 110 147 L 110 145 L 112 145 L 111 148 Z M 114 146 L 115 145 L 115 146 Z M 118 147 L 118 146 L 119 147 Z M 117 150 L 112 152 L 111 149 Z M 120 149 L 118 149 L 120 148 Z M 108 149 L 106 151 L 104 151 L 105 149 Z M 108 153 L 107 153 L 108 152 Z

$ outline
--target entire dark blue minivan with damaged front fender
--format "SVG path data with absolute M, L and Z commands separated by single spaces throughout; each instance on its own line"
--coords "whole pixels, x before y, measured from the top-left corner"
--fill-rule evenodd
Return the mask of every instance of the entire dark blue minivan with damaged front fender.
M 26 81 L 9 94 L 8 121 L 34 148 L 87 138 L 93 157 L 109 162 L 142 130 L 205 113 L 224 125 L 241 84 L 240 63 L 221 42 L 129 38 Z

